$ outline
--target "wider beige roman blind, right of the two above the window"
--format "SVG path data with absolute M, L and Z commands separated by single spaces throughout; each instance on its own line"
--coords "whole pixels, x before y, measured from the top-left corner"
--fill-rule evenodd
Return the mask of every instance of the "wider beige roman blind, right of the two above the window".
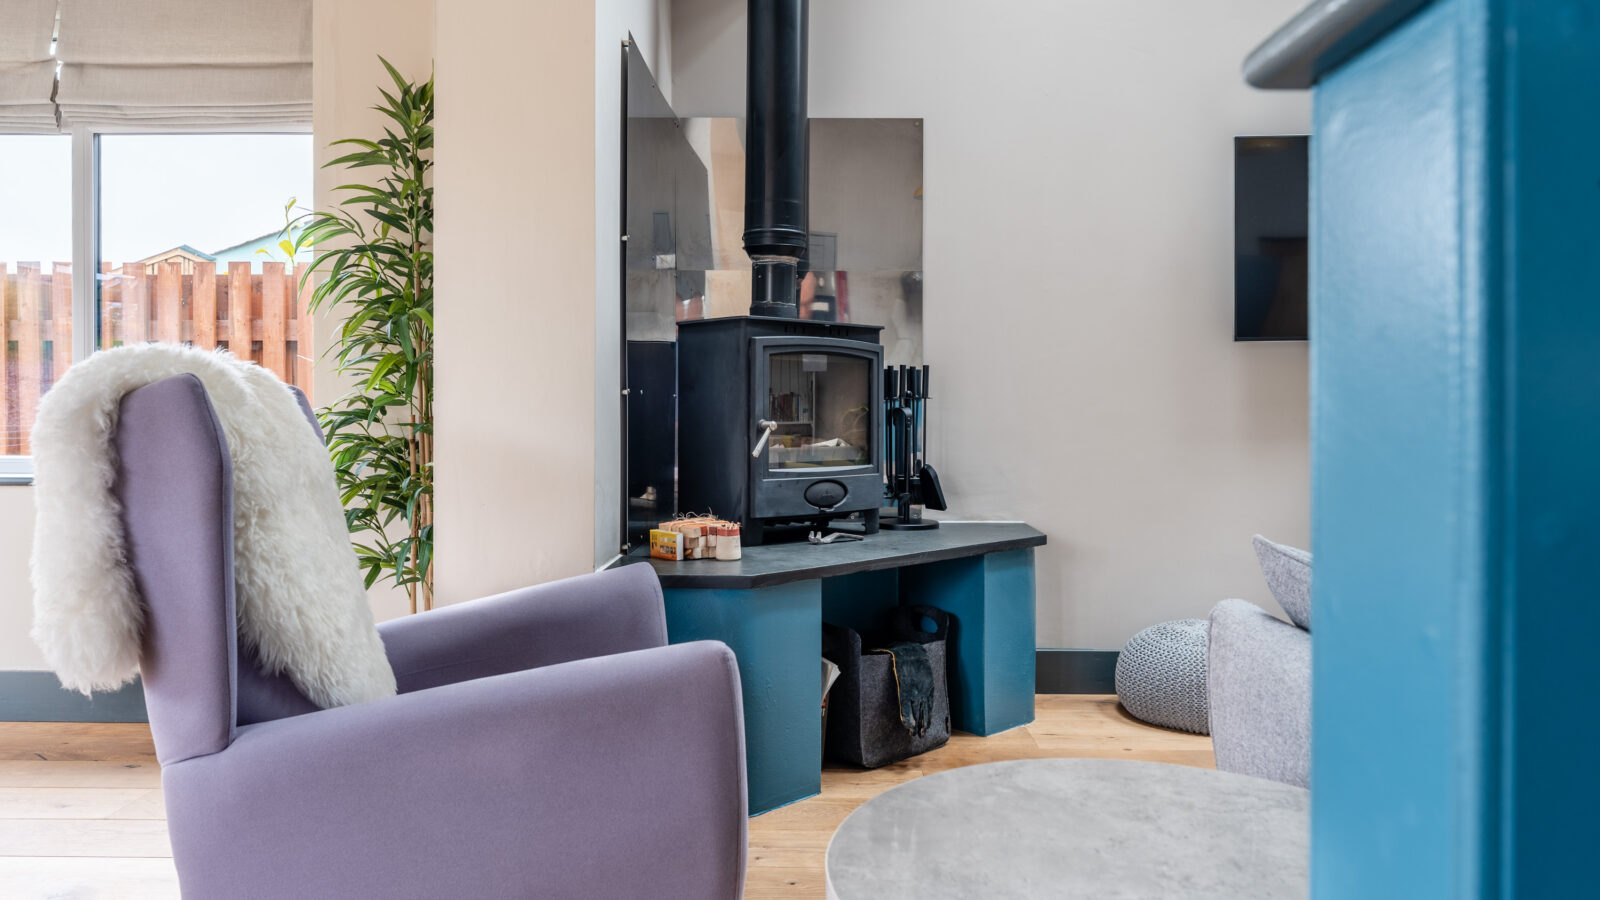
M 310 130 L 312 0 L 59 3 L 62 127 Z

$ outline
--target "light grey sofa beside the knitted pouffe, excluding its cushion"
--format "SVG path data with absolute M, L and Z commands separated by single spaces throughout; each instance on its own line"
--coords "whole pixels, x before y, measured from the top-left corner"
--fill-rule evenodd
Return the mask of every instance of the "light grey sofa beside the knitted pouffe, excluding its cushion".
M 1310 633 L 1245 601 L 1211 610 L 1206 650 L 1216 767 L 1310 786 Z

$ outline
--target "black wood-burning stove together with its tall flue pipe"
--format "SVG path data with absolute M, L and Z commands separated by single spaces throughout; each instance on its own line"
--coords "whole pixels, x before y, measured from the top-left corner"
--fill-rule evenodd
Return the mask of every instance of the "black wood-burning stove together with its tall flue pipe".
M 746 544 L 883 503 L 878 325 L 797 301 L 810 242 L 806 0 L 752 0 L 744 250 L 750 312 L 678 322 L 678 511 L 738 519 Z

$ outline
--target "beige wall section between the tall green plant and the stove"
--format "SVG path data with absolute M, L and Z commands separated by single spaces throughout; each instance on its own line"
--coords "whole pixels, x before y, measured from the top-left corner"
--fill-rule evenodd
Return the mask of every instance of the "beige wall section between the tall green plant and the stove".
M 595 5 L 440 8 L 435 588 L 592 569 Z

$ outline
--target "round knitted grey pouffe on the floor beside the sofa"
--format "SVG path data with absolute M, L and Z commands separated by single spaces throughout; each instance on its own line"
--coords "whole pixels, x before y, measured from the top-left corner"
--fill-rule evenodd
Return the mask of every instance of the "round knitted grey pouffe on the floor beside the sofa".
M 1133 636 L 1117 657 L 1117 697 L 1138 719 L 1197 735 L 1211 733 L 1205 697 L 1210 623 L 1181 618 Z

